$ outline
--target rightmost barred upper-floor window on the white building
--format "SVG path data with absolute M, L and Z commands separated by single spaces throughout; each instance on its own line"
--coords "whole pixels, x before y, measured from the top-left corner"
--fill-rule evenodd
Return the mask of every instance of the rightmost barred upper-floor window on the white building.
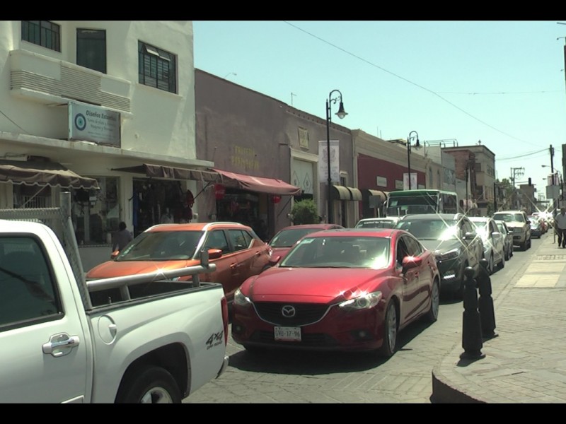
M 170 93 L 177 93 L 175 54 L 144 42 L 138 42 L 139 83 Z

